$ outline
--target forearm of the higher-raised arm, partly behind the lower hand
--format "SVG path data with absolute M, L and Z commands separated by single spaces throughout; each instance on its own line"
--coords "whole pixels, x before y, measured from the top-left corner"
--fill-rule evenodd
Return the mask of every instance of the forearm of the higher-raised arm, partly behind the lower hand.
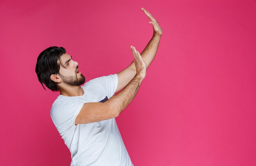
M 148 69 L 148 66 L 150 66 L 153 59 L 155 58 L 155 54 L 157 53 L 157 49 L 158 49 L 158 46 L 159 46 L 160 39 L 161 39 L 161 35 L 156 35 L 154 33 L 153 37 L 148 42 L 145 49 L 140 54 L 142 59 L 144 60 L 144 62 L 147 65 L 147 69 Z M 133 61 L 130 64 L 130 67 L 134 70 L 136 69 L 135 68 L 135 63 Z

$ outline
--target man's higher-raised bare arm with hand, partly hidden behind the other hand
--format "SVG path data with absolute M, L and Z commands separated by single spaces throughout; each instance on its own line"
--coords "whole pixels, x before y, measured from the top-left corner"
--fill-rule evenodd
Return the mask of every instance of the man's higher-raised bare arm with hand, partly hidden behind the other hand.
M 151 38 L 151 40 L 148 42 L 147 46 L 141 53 L 142 59 L 144 60 L 144 62 L 146 62 L 146 69 L 148 69 L 151 62 L 155 58 L 155 54 L 157 52 L 159 41 L 162 35 L 162 29 L 159 26 L 157 20 L 155 20 L 155 18 L 148 11 L 146 11 L 146 9 L 141 8 L 141 10 L 144 11 L 144 13 L 148 16 L 148 18 L 150 19 L 149 23 L 153 25 L 153 29 L 154 29 L 153 37 Z M 121 72 L 117 73 L 118 86 L 115 93 L 123 89 L 132 80 L 135 74 L 136 74 L 135 62 L 132 61 L 130 66 L 128 66 L 126 69 L 122 70 Z

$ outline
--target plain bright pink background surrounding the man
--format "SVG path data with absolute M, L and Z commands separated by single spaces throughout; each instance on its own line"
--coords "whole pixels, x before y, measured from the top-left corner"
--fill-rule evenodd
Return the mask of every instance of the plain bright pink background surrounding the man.
M 51 118 L 41 51 L 63 46 L 86 82 L 118 73 L 163 34 L 146 78 L 116 118 L 135 166 L 256 165 L 256 1 L 0 2 L 1 140 L 4 166 L 70 165 Z

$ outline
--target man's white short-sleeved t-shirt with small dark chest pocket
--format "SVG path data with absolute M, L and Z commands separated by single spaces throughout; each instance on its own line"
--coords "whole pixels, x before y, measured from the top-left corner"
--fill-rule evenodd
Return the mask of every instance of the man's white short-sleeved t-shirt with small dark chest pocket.
M 115 118 L 75 125 L 84 103 L 106 102 L 117 89 L 117 74 L 86 82 L 83 96 L 58 95 L 51 118 L 71 153 L 70 166 L 133 166 Z

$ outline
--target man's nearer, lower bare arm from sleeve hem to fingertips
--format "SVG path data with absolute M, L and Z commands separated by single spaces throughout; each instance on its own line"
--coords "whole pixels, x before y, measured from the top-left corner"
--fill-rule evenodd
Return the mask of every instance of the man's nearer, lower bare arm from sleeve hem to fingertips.
M 131 48 L 135 57 L 135 77 L 126 85 L 126 87 L 117 95 L 114 95 L 104 103 L 91 102 L 84 103 L 79 114 L 76 117 L 76 124 L 87 124 L 107 120 L 120 115 L 120 113 L 130 104 L 135 97 L 142 80 L 146 76 L 146 63 L 135 48 Z

